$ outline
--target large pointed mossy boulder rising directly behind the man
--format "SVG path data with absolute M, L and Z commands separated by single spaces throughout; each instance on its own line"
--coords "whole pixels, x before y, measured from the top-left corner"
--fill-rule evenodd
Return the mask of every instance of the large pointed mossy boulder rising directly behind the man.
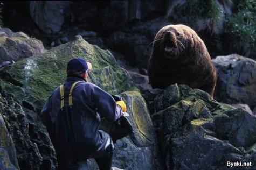
M 20 169 L 53 169 L 56 156 L 38 113 L 52 91 L 66 79 L 68 60 L 81 56 L 93 63 L 88 81 L 110 94 L 120 94 L 127 104 L 129 121 L 135 133 L 116 143 L 113 166 L 129 169 L 162 169 L 153 123 L 146 102 L 126 70 L 117 66 L 114 56 L 98 46 L 88 44 L 81 36 L 67 44 L 52 48 L 38 56 L 3 67 L 0 70 L 0 91 L 11 105 L 6 124 L 15 142 Z M 8 104 L 6 104 L 7 107 Z M 2 112 L 1 112 L 2 114 Z M 13 116 L 14 115 L 14 116 Z M 14 118 L 20 117 L 16 123 Z M 20 116 L 19 116 L 20 115 Z M 12 130 L 17 129 L 18 134 Z M 24 136 L 22 136 L 22 134 Z M 31 152 L 27 152 L 27 151 Z M 30 160 L 24 164 L 23 158 Z M 30 159 L 32 158 L 33 159 Z M 135 161 L 136 160 L 136 161 Z M 93 161 L 89 167 L 96 168 Z

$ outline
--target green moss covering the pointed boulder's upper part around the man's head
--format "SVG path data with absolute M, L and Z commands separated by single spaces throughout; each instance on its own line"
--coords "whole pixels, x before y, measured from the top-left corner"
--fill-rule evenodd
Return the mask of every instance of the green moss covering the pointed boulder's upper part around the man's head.
M 112 54 L 78 38 L 0 70 L 2 90 L 14 94 L 18 102 L 26 101 L 40 110 L 52 91 L 64 83 L 67 62 L 78 56 L 93 65 L 89 70 L 89 82 L 112 94 L 136 89 L 126 70 L 117 66 Z

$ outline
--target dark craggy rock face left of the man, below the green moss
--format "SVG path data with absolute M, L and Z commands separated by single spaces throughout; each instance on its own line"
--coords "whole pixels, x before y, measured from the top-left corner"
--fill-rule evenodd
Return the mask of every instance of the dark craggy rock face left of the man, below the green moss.
M 35 112 L 23 108 L 12 97 L 1 98 L 0 112 L 15 144 L 20 169 L 53 169 L 56 158 L 47 131 Z

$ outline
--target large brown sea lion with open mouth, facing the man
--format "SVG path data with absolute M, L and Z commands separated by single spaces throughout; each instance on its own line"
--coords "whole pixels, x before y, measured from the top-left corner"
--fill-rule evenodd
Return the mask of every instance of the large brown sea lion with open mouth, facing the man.
M 186 84 L 213 97 L 216 70 L 202 39 L 185 25 L 167 25 L 154 39 L 148 64 L 149 83 L 164 89 Z

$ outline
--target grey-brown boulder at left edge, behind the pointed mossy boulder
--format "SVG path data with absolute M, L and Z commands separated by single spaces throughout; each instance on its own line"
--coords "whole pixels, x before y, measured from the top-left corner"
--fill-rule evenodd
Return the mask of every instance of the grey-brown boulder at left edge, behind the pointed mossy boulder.
M 40 40 L 30 38 L 23 32 L 0 29 L 0 63 L 18 61 L 45 51 Z

